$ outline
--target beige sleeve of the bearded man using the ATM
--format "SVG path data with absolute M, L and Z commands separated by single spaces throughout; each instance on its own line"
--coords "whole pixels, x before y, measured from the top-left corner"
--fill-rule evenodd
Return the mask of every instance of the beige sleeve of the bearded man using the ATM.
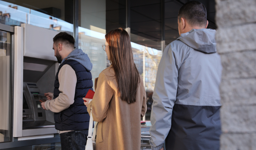
M 52 100 L 46 100 L 45 109 L 58 113 L 74 103 L 75 86 L 76 86 L 76 74 L 74 69 L 65 64 L 59 71 L 59 91 L 60 94 L 57 98 Z

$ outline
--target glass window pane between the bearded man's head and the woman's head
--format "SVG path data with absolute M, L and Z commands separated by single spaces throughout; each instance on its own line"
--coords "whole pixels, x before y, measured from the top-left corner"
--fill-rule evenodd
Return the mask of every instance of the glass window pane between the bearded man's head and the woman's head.
M 106 33 L 125 28 L 125 8 L 125 0 L 79 0 L 79 49 L 93 63 L 93 82 L 110 66 L 101 45 L 105 44 Z

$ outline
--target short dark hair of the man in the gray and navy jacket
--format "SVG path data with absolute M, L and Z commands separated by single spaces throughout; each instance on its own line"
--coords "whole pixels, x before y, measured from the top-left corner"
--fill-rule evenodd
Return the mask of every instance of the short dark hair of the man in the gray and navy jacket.
M 179 21 L 181 18 L 185 18 L 191 26 L 204 26 L 207 24 L 206 8 L 198 1 L 187 2 L 180 8 Z

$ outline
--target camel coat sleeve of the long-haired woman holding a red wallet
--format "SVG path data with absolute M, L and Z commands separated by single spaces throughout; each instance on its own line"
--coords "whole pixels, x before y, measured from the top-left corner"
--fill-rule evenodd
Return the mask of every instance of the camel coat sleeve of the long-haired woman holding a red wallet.
M 95 90 L 93 100 L 89 103 L 87 108 L 89 114 L 91 109 L 94 121 L 102 122 L 106 118 L 109 102 L 112 99 L 112 96 L 113 91 L 109 79 L 101 72 L 97 81 L 97 89 Z

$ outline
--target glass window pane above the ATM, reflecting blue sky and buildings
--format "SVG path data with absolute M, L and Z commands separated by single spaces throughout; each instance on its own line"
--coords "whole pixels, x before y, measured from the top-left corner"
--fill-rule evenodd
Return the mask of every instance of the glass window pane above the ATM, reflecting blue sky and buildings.
M 0 23 L 27 23 L 73 35 L 73 0 L 0 0 Z

